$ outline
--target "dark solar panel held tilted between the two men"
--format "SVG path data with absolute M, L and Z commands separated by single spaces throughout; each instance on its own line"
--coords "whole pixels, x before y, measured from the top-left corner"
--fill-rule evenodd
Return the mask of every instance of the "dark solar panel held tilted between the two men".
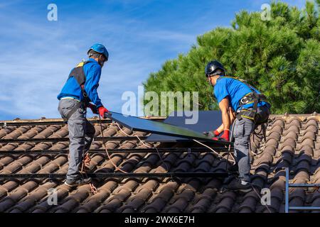
M 223 143 L 223 144 L 227 143 L 223 141 L 214 141 L 210 137 L 203 135 L 203 133 L 198 133 L 188 128 L 173 126 L 168 123 L 150 121 L 143 118 L 137 118 L 135 116 L 127 116 L 127 115 L 119 114 L 112 111 L 110 111 L 110 113 L 112 114 L 110 116 L 112 120 L 122 124 L 127 128 L 130 128 L 132 131 L 143 131 L 148 133 L 151 132 L 151 133 L 157 133 L 161 135 L 174 135 L 182 138 L 204 140 L 204 141 L 210 141 L 214 143 Z

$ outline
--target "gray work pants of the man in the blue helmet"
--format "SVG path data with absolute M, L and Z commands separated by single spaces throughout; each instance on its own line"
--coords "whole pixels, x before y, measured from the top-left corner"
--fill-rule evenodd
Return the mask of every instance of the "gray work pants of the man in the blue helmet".
M 59 101 L 58 111 L 65 118 L 78 101 L 75 99 L 62 99 Z M 90 149 L 95 127 L 85 118 L 86 110 L 82 106 L 68 119 L 69 130 L 69 168 L 67 179 L 75 180 L 80 177 L 79 168 L 84 153 Z

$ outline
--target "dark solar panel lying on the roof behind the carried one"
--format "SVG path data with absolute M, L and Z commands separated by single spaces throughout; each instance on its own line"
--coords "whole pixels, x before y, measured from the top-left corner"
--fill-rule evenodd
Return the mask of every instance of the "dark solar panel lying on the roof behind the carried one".
M 191 111 L 174 111 L 164 120 L 164 123 L 188 128 L 198 133 L 215 130 L 222 123 L 220 111 L 198 111 L 198 121 L 193 124 L 187 124 L 186 120 L 191 118 L 195 118 L 195 116 L 191 115 Z M 188 138 L 159 135 L 157 133 L 152 133 L 146 138 L 147 142 L 178 142 L 186 140 Z

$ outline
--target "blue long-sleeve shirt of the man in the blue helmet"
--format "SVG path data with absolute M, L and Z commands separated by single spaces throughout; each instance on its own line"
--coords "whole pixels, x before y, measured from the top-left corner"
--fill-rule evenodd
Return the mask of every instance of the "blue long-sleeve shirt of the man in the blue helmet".
M 83 66 L 83 70 L 86 77 L 85 92 L 87 92 L 87 96 L 89 97 L 90 101 L 92 101 L 92 103 L 97 107 L 100 107 L 102 106 L 102 102 L 97 94 L 97 88 L 99 87 L 101 66 L 96 60 L 90 58 L 87 64 Z M 63 89 L 57 96 L 59 100 L 63 97 L 73 97 L 80 101 L 83 100 L 80 85 L 74 77 L 70 77 L 67 82 L 65 82 Z

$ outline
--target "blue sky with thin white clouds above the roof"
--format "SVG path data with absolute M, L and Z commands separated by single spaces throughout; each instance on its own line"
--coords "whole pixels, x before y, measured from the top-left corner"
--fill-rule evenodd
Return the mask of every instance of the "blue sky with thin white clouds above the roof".
M 58 6 L 58 21 L 47 19 L 50 3 Z M 197 35 L 230 26 L 236 12 L 260 11 L 264 3 L 270 1 L 1 1 L 0 120 L 59 118 L 56 96 L 93 43 L 110 52 L 98 93 L 119 112 L 123 92 L 137 93 L 150 72 L 188 52 Z

